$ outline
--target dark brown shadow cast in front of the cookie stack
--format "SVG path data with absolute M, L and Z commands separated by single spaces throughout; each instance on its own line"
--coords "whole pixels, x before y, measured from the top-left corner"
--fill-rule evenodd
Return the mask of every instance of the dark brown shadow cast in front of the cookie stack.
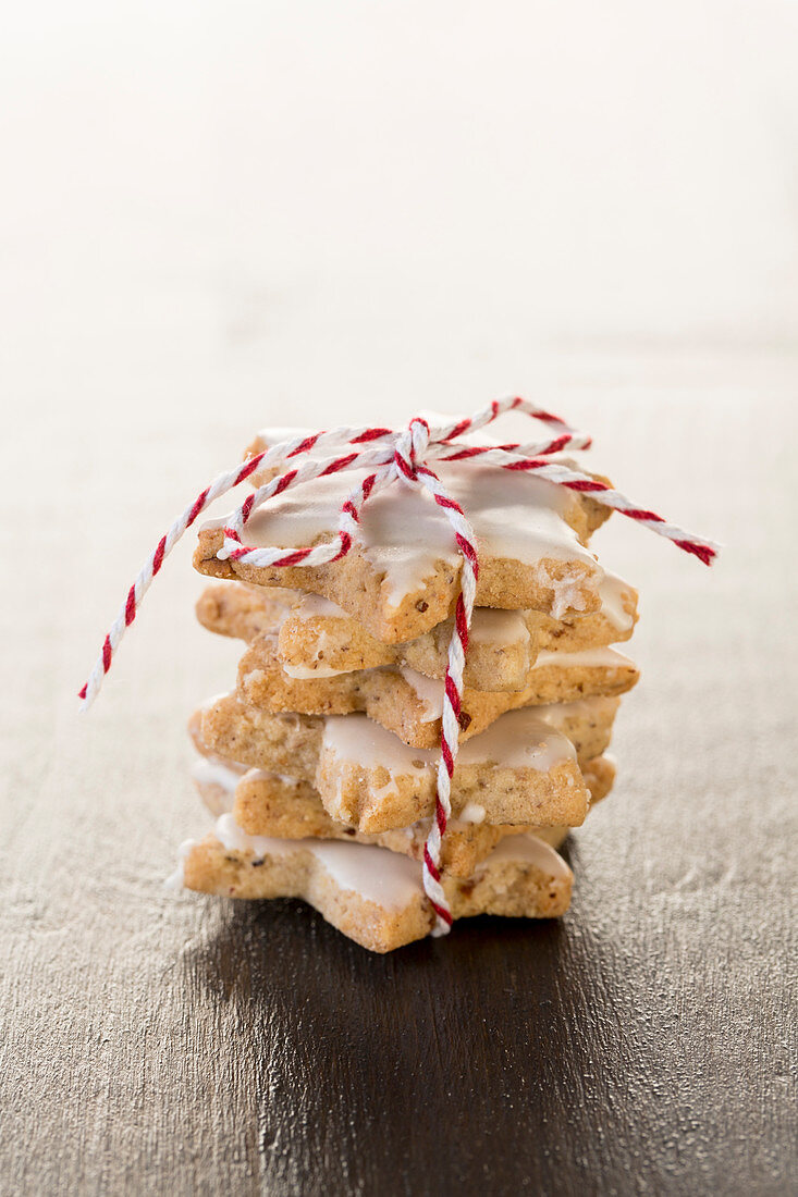
M 183 973 L 198 1011 L 231 1011 L 260 1142 L 290 1144 L 284 1157 L 264 1153 L 277 1190 L 350 1183 L 338 1159 L 357 1161 L 364 1191 L 386 1174 L 411 1191 L 399 1177 L 436 1157 L 467 1183 L 477 1161 L 496 1159 L 501 1124 L 496 1167 L 515 1191 L 544 1159 L 554 1175 L 578 1134 L 606 1118 L 587 1027 L 591 1010 L 612 1009 L 618 960 L 578 910 L 560 922 L 465 919 L 445 940 L 381 956 L 300 901 L 214 906 Z M 291 1179 L 297 1160 L 304 1172 Z

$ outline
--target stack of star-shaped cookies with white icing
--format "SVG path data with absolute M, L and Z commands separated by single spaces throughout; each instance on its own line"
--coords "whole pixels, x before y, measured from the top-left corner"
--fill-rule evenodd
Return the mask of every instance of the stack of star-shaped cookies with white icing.
M 264 432 L 249 454 L 295 435 Z M 454 918 L 555 917 L 573 882 L 556 849 L 615 778 L 606 748 L 637 670 L 611 645 L 631 636 L 636 594 L 588 548 L 609 515 L 590 497 L 473 462 L 436 472 L 479 551 L 442 886 Z M 272 498 L 247 543 L 331 539 L 357 480 Z M 421 862 L 459 593 L 451 524 L 404 481 L 369 499 L 351 552 L 320 566 L 218 560 L 224 524 L 199 534 L 197 569 L 223 581 L 198 616 L 246 648 L 235 689 L 191 722 L 217 822 L 183 845 L 180 877 L 225 897 L 303 898 L 375 952 L 421 938 L 435 925 Z

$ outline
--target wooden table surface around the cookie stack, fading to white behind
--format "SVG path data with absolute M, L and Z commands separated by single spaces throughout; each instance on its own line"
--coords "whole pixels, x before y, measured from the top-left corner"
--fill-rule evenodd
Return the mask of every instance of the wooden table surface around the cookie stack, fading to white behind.
M 0 45 L 0 1192 L 784 1195 L 796 1177 L 794 12 L 137 0 Z M 238 646 L 180 547 L 259 426 L 507 390 L 629 494 L 642 680 L 560 923 L 388 958 L 175 897 Z M 4 455 L 5 456 L 5 455 Z

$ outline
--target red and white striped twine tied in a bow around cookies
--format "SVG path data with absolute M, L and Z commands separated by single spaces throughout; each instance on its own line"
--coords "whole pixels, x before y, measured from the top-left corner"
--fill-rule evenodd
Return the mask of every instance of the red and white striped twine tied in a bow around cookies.
M 549 439 L 512 443 L 501 445 L 464 444 L 458 438 L 473 433 L 486 424 L 491 424 L 504 412 L 516 411 L 549 426 L 554 433 Z M 341 445 L 347 451 L 333 457 L 308 457 L 314 450 L 330 446 L 340 452 Z M 563 449 L 590 449 L 591 438 L 569 427 L 564 420 L 550 412 L 534 407 L 522 399 L 495 400 L 483 411 L 467 419 L 458 420 L 440 429 L 430 429 L 427 420 L 416 418 L 407 429 L 397 432 L 392 429 L 339 427 L 328 432 L 315 432 L 312 436 L 296 437 L 273 445 L 271 449 L 250 457 L 235 469 L 220 474 L 210 486 L 194 499 L 191 506 L 173 523 L 161 537 L 152 555 L 146 560 L 135 582 L 131 587 L 114 624 L 111 625 L 95 663 L 89 680 L 80 689 L 84 709 L 97 697 L 103 679 L 111 667 L 114 655 L 125 632 L 135 619 L 144 595 L 152 579 L 159 572 L 165 558 L 175 547 L 183 533 L 191 528 L 197 517 L 234 487 L 249 478 L 255 470 L 270 466 L 288 466 L 283 473 L 253 491 L 240 508 L 230 516 L 224 529 L 224 541 L 217 552 L 219 560 L 244 561 L 255 566 L 296 566 L 321 565 L 337 561 L 345 557 L 357 535 L 357 524 L 363 504 L 370 496 L 389 486 L 398 478 L 404 478 L 433 496 L 435 503 L 446 512 L 458 548 L 463 557 L 461 593 L 455 606 L 454 632 L 449 642 L 446 680 L 443 683 L 443 711 L 441 717 L 441 757 L 437 768 L 437 794 L 435 798 L 435 818 L 424 846 L 424 889 L 433 904 L 436 924 L 433 934 L 445 935 L 452 926 L 446 894 L 441 885 L 441 847 L 446 827 L 452 813 L 451 786 L 460 737 L 460 709 L 463 701 L 463 672 L 468 648 L 468 632 L 477 593 L 479 560 L 473 529 L 459 503 L 447 494 L 446 487 L 430 469 L 429 462 L 468 462 L 478 460 L 501 469 L 524 470 L 545 478 L 557 486 L 590 494 L 598 503 L 613 508 L 629 519 L 649 528 L 660 536 L 672 540 L 685 553 L 693 553 L 705 565 L 711 565 L 718 554 L 718 545 L 691 533 L 666 523 L 654 511 L 630 503 L 612 487 L 599 482 L 570 466 L 548 460 L 551 454 Z M 295 464 L 296 462 L 296 464 Z M 261 504 L 272 496 L 280 494 L 290 486 L 297 486 L 314 478 L 346 470 L 370 470 L 358 486 L 344 499 L 335 535 L 327 543 L 307 548 L 254 548 L 242 543 L 247 521 Z

